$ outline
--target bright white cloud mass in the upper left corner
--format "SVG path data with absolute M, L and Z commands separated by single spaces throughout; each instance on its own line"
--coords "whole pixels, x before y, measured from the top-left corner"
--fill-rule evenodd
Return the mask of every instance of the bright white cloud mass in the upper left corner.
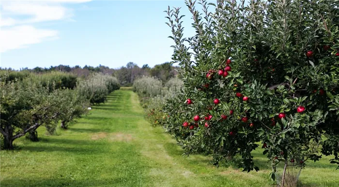
M 28 47 L 51 37 L 55 38 L 58 31 L 38 29 L 34 24 L 72 20 L 72 9 L 67 8 L 66 4 L 88 1 L 91 0 L 0 1 L 0 52 Z

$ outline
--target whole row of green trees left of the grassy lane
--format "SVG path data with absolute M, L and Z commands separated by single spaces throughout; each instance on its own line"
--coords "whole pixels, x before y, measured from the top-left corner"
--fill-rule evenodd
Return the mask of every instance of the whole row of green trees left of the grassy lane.
M 45 126 L 54 134 L 93 104 L 105 102 L 107 95 L 120 88 L 118 80 L 108 75 L 93 74 L 88 79 L 61 72 L 41 75 L 0 72 L 0 144 L 13 149 L 13 141 L 26 135 L 37 141 L 36 129 Z

